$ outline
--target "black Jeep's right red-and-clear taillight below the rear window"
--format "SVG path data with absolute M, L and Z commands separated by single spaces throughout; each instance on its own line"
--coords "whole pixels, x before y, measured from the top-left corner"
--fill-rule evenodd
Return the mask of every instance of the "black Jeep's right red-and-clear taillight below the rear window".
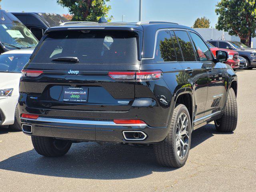
M 108 72 L 108 75 L 115 80 L 135 80 L 148 81 L 162 78 L 163 72 L 157 71 L 138 71 L 138 72 Z

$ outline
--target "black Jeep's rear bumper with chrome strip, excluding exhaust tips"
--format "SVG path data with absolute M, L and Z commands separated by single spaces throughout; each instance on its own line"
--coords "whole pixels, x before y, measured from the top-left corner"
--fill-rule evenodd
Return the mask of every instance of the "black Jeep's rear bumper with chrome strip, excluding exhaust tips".
M 154 143 L 164 140 L 167 127 L 150 127 L 146 124 L 121 125 L 106 121 L 21 118 L 22 124 L 32 125 L 32 133 L 27 135 L 47 136 L 74 141 L 106 141 L 126 143 Z M 126 140 L 124 131 L 141 131 L 146 134 L 144 140 Z

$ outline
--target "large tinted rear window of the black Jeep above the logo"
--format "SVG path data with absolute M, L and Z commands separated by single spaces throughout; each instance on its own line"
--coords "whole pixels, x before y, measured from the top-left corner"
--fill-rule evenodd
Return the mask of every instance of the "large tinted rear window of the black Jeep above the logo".
M 82 64 L 138 64 L 138 34 L 128 31 L 81 30 L 51 32 L 31 62 L 77 57 Z

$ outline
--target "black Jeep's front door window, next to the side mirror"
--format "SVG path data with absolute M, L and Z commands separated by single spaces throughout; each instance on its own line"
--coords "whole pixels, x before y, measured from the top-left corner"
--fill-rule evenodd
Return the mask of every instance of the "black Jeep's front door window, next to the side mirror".
M 211 51 L 204 41 L 195 33 L 190 32 L 190 36 L 196 48 L 197 56 L 200 61 L 212 61 Z

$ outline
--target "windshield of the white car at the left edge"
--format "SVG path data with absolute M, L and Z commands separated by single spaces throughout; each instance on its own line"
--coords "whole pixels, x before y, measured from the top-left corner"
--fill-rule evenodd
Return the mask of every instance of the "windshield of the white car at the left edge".
M 28 62 L 31 54 L 2 54 L 0 55 L 0 72 L 18 72 Z

